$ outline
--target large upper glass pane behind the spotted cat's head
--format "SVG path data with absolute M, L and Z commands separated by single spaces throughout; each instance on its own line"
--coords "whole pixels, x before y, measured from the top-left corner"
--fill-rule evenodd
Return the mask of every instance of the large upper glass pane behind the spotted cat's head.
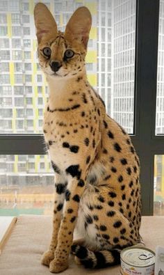
M 0 1 L 1 2 L 1 1 Z M 47 101 L 46 79 L 38 66 L 37 42 L 34 31 L 33 10 L 23 0 L 2 1 L 0 9 L 0 58 L 3 72 L 0 78 L 0 133 L 41 133 L 42 114 Z M 73 11 L 84 3 L 92 13 L 92 29 L 88 42 L 86 63 L 88 80 L 104 98 L 106 111 L 133 134 L 134 62 L 136 37 L 136 0 L 42 1 L 55 15 L 58 29 L 64 31 Z M 77 3 L 78 2 L 78 3 Z M 97 52 L 98 50 L 98 52 Z M 99 57 L 99 58 L 98 58 Z M 1 70 L 1 69 L 0 69 Z M 6 86 L 10 86 L 6 104 Z M 41 99 L 40 86 L 42 86 Z M 18 92 L 19 87 L 19 92 Z M 17 93 L 15 91 L 17 90 Z M 27 94 L 26 91 L 31 93 Z M 18 98 L 15 96 L 19 95 Z M 29 128 L 25 116 L 29 108 L 26 97 L 31 97 L 33 108 Z M 13 109 L 9 116 L 6 109 Z M 18 113 L 24 109 L 24 123 L 16 127 Z M 7 125 L 8 127 L 4 127 Z M 20 125 L 19 125 L 20 126 Z

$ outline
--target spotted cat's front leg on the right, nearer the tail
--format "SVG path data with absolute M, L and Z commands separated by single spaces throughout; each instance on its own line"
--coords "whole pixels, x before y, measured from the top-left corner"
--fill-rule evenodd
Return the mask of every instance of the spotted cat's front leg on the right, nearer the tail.
M 71 251 L 79 202 L 85 188 L 84 180 L 85 175 L 81 175 L 81 178 L 74 177 L 67 184 L 63 219 L 58 232 L 58 245 L 55 258 L 49 264 L 50 272 L 62 272 L 68 267 L 68 257 Z

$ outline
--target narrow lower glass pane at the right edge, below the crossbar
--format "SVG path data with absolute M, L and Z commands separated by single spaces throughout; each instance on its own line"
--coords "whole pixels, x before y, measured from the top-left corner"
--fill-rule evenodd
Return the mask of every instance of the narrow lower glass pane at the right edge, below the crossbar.
M 154 215 L 164 216 L 164 155 L 154 158 Z

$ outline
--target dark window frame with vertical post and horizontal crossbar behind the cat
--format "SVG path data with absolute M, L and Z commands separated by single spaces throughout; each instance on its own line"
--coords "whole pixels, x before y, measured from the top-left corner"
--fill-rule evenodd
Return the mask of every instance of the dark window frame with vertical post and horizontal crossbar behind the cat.
M 140 157 L 143 215 L 153 214 L 154 156 L 164 155 L 164 135 L 155 135 L 158 19 L 159 0 L 136 0 L 134 134 L 131 139 Z M 44 155 L 44 137 L 42 134 L 0 134 L 0 154 Z

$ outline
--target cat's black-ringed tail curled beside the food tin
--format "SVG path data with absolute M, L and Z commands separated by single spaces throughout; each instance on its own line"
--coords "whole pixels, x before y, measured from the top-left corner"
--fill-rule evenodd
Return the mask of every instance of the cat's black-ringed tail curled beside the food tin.
M 90 251 L 79 244 L 72 245 L 74 254 L 85 268 L 104 268 L 120 264 L 121 249 Z

